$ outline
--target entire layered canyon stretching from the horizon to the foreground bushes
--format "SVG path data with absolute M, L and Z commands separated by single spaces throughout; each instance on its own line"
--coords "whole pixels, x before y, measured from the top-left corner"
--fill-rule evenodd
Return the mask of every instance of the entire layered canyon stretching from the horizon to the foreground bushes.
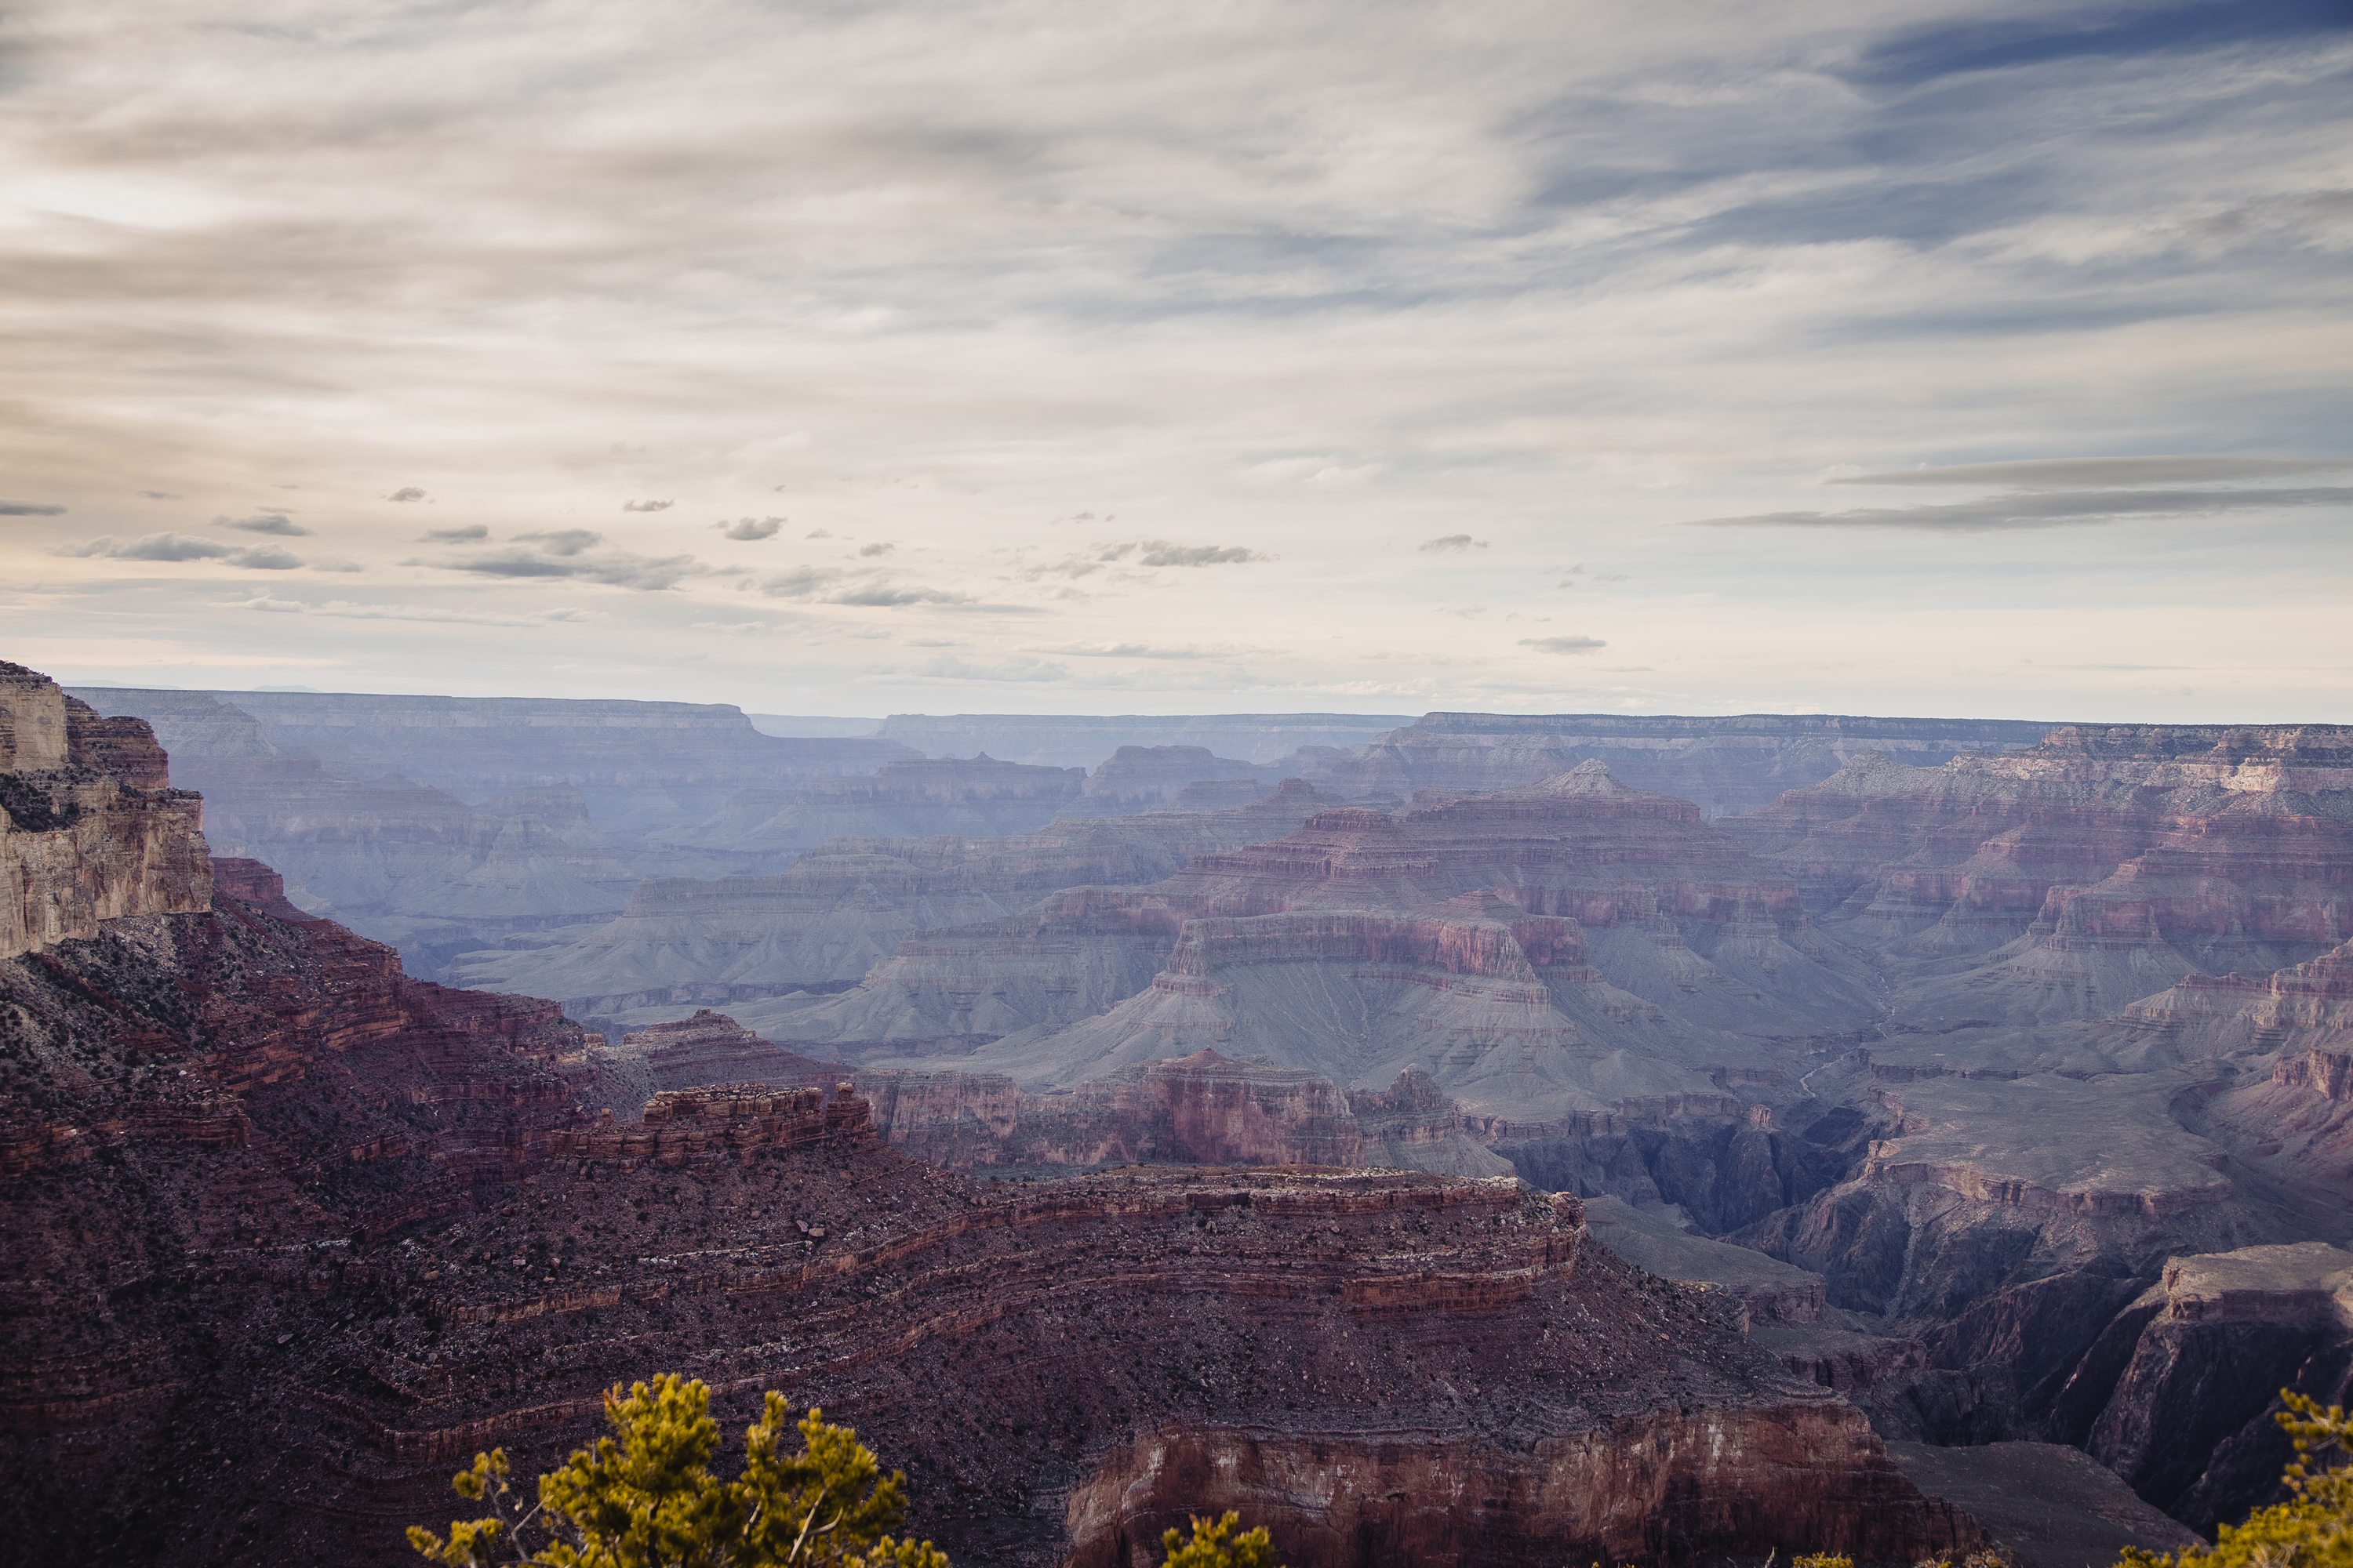
M 224 1467 L 367 1556 L 647 1356 L 1038 1563 L 1233 1505 L 1294 1563 L 2066 1568 L 2235 1519 L 2275 1389 L 2353 1392 L 2348 731 L 784 773 L 734 710 L 464 762 L 489 719 L 386 698 L 393 769 L 355 698 L 155 693 L 167 778 L 9 670 L 0 1458 L 122 1505 L 68 1559 L 249 1552 Z M 398 952 L 320 919 L 362 877 Z

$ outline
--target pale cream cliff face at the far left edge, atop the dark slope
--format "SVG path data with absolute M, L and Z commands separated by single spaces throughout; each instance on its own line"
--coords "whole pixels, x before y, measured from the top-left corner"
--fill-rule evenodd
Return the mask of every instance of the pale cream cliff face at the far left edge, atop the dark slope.
M 0 663 L 0 959 L 132 914 L 205 910 L 202 802 L 139 719 Z

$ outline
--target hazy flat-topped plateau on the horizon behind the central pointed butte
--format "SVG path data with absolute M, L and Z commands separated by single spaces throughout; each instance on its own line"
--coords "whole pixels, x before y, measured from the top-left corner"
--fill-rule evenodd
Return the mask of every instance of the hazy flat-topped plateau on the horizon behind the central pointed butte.
M 2045 724 L 2014 719 L 1859 719 L 1835 715 L 1431 712 L 1308 778 L 1341 795 L 1511 790 L 1602 762 L 1638 790 L 1678 795 L 1706 816 L 1753 811 L 1864 755 L 1939 764 L 1960 752 L 2033 745 Z

